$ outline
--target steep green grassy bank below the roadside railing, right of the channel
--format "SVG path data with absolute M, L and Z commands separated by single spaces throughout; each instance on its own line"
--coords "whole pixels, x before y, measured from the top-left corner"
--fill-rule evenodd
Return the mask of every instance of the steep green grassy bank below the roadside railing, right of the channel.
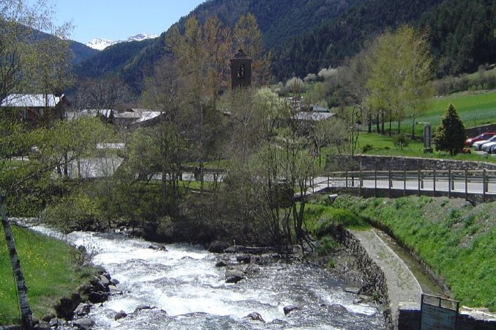
M 496 310 L 496 203 L 472 207 L 446 197 L 340 196 L 332 207 L 386 227 L 444 280 L 462 305 Z

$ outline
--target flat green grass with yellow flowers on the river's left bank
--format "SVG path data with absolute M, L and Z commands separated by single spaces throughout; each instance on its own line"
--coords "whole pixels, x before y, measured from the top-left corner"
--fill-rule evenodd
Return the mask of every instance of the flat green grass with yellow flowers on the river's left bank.
M 17 253 L 28 286 L 33 317 L 54 313 L 62 297 L 70 297 L 76 287 L 96 269 L 77 266 L 82 256 L 68 244 L 42 234 L 13 226 Z M 0 324 L 19 322 L 12 266 L 0 227 Z

